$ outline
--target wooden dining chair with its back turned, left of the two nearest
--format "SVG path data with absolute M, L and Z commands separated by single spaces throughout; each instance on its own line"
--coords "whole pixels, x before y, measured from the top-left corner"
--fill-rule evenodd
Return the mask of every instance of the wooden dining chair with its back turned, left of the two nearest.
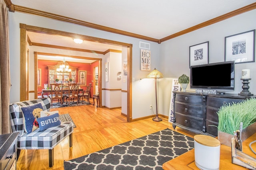
M 50 84 L 51 85 L 51 94 L 48 96 L 51 99 L 51 106 L 53 100 L 58 100 L 60 106 L 62 106 L 62 86 L 63 84 Z

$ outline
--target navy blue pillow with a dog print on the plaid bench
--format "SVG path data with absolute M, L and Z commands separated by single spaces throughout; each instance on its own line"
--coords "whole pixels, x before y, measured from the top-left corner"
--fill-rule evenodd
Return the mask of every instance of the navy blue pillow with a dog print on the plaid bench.
M 21 110 L 24 117 L 24 130 L 29 134 L 39 127 L 37 119 L 40 117 L 43 107 L 39 103 L 28 107 L 21 107 Z

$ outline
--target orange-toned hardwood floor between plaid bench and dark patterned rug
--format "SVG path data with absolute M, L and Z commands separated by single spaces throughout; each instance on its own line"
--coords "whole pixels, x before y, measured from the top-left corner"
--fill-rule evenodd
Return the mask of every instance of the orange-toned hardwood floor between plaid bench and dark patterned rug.
M 126 122 L 121 109 L 97 108 L 96 106 L 61 107 L 59 114 L 69 113 L 76 128 L 73 132 L 73 146 L 68 145 L 68 138 L 54 147 L 54 165 L 49 168 L 48 150 L 21 150 L 17 160 L 17 170 L 64 170 L 64 160 L 74 159 L 98 150 L 160 131 L 173 129 L 168 119 L 152 121 L 152 118 Z M 176 128 L 175 131 L 193 137 L 195 134 Z

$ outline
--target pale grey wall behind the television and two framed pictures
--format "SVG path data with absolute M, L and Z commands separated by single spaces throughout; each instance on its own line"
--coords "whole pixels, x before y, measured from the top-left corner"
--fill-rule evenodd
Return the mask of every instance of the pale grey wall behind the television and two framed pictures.
M 255 17 L 256 10 L 252 10 L 161 43 L 160 56 L 165 78 L 160 83 L 162 91 L 159 95 L 164 96 L 160 97 L 160 113 L 168 115 L 169 112 L 172 85 L 169 78 L 178 78 L 181 74 L 190 75 L 189 47 L 209 41 L 209 63 L 223 62 L 225 37 L 256 29 Z M 235 64 L 235 89 L 226 92 L 238 94 L 242 91 L 242 69 L 250 69 L 252 80 L 249 90 L 256 94 L 255 62 Z

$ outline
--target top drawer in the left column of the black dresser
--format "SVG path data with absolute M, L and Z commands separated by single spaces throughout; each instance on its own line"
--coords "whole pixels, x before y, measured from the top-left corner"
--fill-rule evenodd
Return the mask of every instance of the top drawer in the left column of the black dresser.
M 203 98 L 200 95 L 186 95 L 176 94 L 175 102 L 182 102 L 187 104 L 203 105 Z

